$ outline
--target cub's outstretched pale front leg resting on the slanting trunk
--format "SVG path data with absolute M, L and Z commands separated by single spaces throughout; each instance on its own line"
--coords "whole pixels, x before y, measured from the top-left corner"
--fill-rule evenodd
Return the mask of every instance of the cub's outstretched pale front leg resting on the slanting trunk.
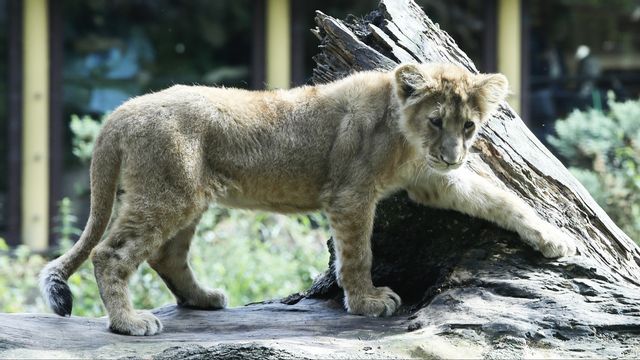
M 414 201 L 457 210 L 515 231 L 545 257 L 556 258 L 576 253 L 576 245 L 571 237 L 541 219 L 519 197 L 471 171 L 463 169 L 453 174 L 432 175 L 420 186 L 409 188 L 408 191 Z

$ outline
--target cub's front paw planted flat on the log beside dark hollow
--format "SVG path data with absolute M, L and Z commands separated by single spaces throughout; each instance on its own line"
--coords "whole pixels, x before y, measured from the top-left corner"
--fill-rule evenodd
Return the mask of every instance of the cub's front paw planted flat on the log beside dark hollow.
M 388 287 L 373 287 L 345 297 L 347 311 L 358 315 L 391 316 L 400 304 L 400 296 Z

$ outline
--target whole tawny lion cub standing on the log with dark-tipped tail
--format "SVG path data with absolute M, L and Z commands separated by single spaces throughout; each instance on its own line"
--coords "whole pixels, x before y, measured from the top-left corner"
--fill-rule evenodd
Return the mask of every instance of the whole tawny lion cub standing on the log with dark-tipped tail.
M 179 305 L 225 307 L 224 293 L 201 286 L 187 262 L 196 224 L 213 201 L 324 210 L 345 307 L 354 314 L 389 316 L 400 305 L 391 289 L 373 286 L 369 243 L 376 203 L 400 189 L 516 231 L 544 256 L 572 255 L 567 235 L 463 166 L 506 94 L 503 75 L 404 64 L 291 90 L 174 86 L 131 99 L 96 140 L 89 220 L 73 248 L 42 271 L 43 294 L 57 314 L 69 315 L 66 280 L 95 247 L 95 275 L 116 333 L 162 330 L 129 300 L 127 280 L 145 260 Z M 122 207 L 101 241 L 119 178 Z

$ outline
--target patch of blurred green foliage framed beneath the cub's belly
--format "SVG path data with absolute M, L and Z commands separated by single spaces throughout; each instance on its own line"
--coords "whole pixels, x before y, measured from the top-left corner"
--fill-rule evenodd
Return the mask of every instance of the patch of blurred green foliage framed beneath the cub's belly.
M 232 306 L 286 296 L 309 286 L 326 267 L 323 229 L 313 230 L 301 215 L 212 207 L 196 233 L 194 247 L 202 256 L 192 252 L 191 265 L 200 278 L 224 288 Z

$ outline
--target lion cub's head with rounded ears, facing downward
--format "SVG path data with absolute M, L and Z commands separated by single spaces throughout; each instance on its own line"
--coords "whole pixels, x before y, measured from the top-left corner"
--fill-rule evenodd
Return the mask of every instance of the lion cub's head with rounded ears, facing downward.
M 439 170 L 460 167 L 480 126 L 506 98 L 507 78 L 455 65 L 405 64 L 394 71 L 400 128 Z

